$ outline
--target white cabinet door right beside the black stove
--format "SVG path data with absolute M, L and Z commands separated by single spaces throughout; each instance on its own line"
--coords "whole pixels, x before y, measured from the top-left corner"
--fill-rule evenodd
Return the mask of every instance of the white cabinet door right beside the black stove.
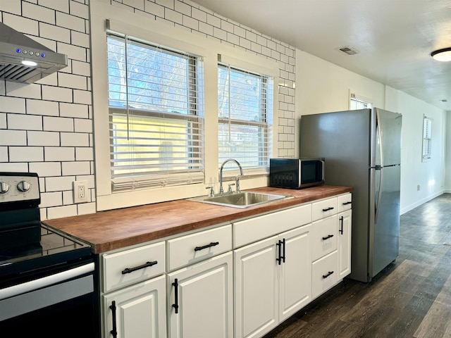
M 166 337 L 165 290 L 162 275 L 103 296 L 104 337 Z

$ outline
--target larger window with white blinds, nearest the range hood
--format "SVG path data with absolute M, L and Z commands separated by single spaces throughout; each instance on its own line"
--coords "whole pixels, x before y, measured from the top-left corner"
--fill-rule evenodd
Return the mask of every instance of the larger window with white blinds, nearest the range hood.
M 128 36 L 107 46 L 113 192 L 203 182 L 200 60 Z

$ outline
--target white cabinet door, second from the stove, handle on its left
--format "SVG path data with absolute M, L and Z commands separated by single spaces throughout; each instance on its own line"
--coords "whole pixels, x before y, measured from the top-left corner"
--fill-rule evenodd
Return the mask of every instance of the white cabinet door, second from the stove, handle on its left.
M 168 335 L 233 337 L 232 252 L 168 274 Z

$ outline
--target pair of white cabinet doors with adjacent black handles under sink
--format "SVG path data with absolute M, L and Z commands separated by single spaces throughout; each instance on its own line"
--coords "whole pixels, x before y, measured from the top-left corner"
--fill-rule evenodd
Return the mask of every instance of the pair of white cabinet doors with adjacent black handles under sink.
M 261 337 L 311 300 L 311 225 L 235 250 L 235 337 Z

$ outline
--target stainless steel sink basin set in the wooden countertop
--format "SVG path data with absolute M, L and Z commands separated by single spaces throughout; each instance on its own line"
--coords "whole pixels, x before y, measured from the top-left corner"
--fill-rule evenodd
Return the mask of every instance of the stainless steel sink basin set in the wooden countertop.
M 231 206 L 233 208 L 248 208 L 249 206 L 258 206 L 272 201 L 290 199 L 290 195 L 266 194 L 261 192 L 237 192 L 221 194 L 218 196 L 200 196 L 189 199 L 207 204 L 216 204 L 218 206 Z

